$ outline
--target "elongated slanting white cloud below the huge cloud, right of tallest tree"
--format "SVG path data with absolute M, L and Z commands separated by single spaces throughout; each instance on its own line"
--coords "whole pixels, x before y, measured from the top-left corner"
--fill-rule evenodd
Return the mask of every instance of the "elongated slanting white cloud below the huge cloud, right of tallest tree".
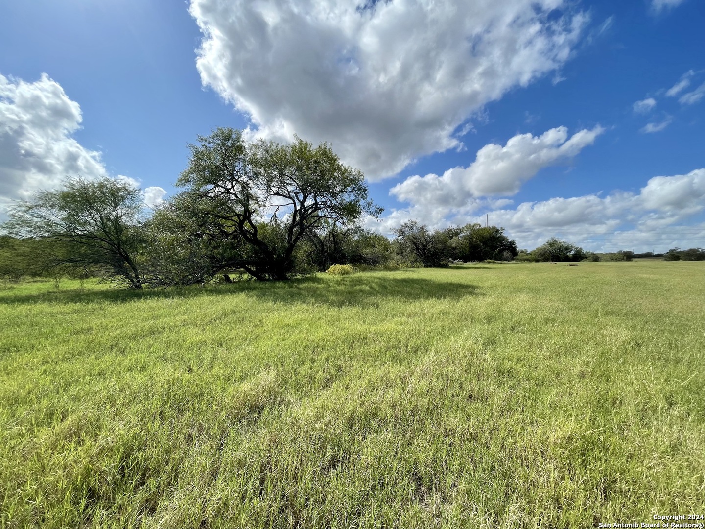
M 477 151 L 467 167 L 448 169 L 443 176 L 410 176 L 390 190 L 398 200 L 424 207 L 467 208 L 479 197 L 514 195 L 522 183 L 547 166 L 575 157 L 603 132 L 596 126 L 568 139 L 568 129 L 552 128 L 540 136 L 517 134 L 506 145 L 490 143 Z

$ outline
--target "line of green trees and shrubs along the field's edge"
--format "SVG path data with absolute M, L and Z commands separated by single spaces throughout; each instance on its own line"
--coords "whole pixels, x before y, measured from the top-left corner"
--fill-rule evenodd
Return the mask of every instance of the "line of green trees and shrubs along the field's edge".
M 468 261 L 578 261 L 582 248 L 551 238 L 518 250 L 498 226 L 431 231 L 407 221 L 390 240 L 363 229 L 382 209 L 362 173 L 326 143 L 247 142 L 219 128 L 190 145 L 179 193 L 153 211 L 113 178 L 66 178 L 9 212 L 0 278 L 100 276 L 128 288 L 204 284 L 240 274 L 285 280 L 332 265 L 447 267 Z

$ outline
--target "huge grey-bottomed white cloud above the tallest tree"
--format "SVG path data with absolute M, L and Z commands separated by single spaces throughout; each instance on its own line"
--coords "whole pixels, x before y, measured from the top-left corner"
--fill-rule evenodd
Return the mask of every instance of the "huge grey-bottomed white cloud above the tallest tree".
M 328 140 L 375 180 L 461 147 L 484 104 L 556 72 L 587 15 L 567 0 L 191 0 L 202 83 L 252 136 Z

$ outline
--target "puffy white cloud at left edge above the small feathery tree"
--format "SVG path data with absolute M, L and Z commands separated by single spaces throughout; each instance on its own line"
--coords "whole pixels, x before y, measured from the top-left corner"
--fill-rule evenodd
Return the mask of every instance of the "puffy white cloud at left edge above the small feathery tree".
M 47 74 L 35 83 L 0 75 L 0 197 L 26 198 L 67 175 L 106 174 L 100 153 L 71 137 L 81 121 L 78 103 Z

